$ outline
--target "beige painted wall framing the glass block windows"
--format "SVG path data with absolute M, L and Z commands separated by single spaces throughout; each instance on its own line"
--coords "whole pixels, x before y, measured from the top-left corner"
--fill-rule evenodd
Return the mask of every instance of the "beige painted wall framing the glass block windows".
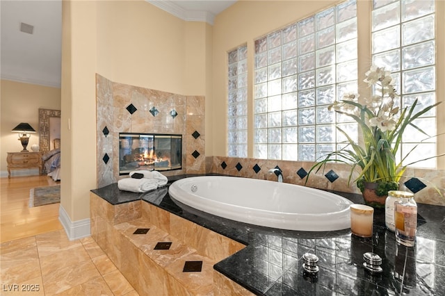
M 286 24 L 291 24 L 309 15 L 313 15 L 329 6 L 341 1 L 238 1 L 227 10 L 220 13 L 215 19 L 213 26 L 213 101 L 212 109 L 207 118 L 211 118 L 211 131 L 213 139 L 211 143 L 211 151 L 208 155 L 225 156 L 227 150 L 226 141 L 226 113 L 227 113 L 227 52 L 242 44 L 248 44 L 248 92 L 249 104 L 252 106 L 253 85 L 252 80 L 254 73 L 254 40 L 282 28 Z M 445 1 L 436 1 L 437 14 L 437 101 L 445 101 Z M 371 11 L 371 1 L 357 1 L 357 10 L 362 15 L 359 19 L 359 28 L 370 27 L 371 20 L 369 12 Z M 363 17 L 364 16 L 364 17 Z M 368 37 L 368 38 L 366 38 Z M 364 72 L 370 66 L 371 42 L 369 36 L 359 36 L 359 75 L 364 77 Z M 363 39 L 362 39 L 363 38 Z M 361 89 L 366 88 L 360 81 Z M 253 116 L 250 108 L 250 154 L 253 156 Z M 437 108 L 438 133 L 445 133 L 445 104 L 441 104 Z M 216 136 L 218 135 L 218 136 Z M 439 138 L 438 154 L 445 153 L 445 136 Z M 439 158 L 439 168 L 445 168 L 445 157 Z

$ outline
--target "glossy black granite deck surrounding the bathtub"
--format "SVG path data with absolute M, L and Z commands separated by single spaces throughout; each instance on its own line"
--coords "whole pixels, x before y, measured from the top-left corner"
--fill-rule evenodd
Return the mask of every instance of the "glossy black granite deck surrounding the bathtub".
M 247 245 L 214 265 L 236 283 L 257 295 L 445 295 L 445 207 L 418 204 L 416 245 L 396 244 L 385 228 L 385 210 L 375 209 L 372 238 L 358 238 L 350 230 L 287 231 L 234 222 L 176 204 L 168 186 L 146 193 L 125 192 L 117 183 L 91 190 L 111 204 L 138 199 L 191 220 L 202 227 Z M 335 192 L 357 204 L 360 195 Z M 319 258 L 316 276 L 302 269 L 306 252 Z M 383 272 L 364 269 L 363 254 L 382 258 Z

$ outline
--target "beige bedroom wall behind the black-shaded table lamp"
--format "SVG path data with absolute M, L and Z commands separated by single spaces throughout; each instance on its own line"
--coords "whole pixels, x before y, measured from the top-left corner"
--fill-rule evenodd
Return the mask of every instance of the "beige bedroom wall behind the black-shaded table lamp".
M 1 80 L 1 145 L 0 171 L 7 170 L 6 152 L 19 152 L 23 147 L 17 133 L 12 133 L 20 122 L 28 122 L 37 131 L 29 139 L 31 145 L 39 144 L 39 108 L 60 110 L 60 88 Z

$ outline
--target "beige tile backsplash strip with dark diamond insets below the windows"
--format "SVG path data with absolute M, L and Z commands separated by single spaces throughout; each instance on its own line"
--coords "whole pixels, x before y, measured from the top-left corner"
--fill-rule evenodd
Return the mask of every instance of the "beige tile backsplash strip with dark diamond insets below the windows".
M 206 161 L 206 172 L 277 181 L 277 176 L 270 174 L 268 170 L 278 167 L 282 170 L 285 183 L 322 190 L 360 193 L 355 183 L 351 182 L 348 185 L 350 174 L 348 165 L 327 164 L 324 171 L 321 170 L 317 174 L 312 172 L 309 181 L 306 183 L 307 173 L 313 164 L 301 161 L 209 156 Z M 355 176 L 358 176 L 358 173 Z M 416 202 L 445 206 L 445 170 L 408 168 L 401 179 L 401 184 L 414 193 Z

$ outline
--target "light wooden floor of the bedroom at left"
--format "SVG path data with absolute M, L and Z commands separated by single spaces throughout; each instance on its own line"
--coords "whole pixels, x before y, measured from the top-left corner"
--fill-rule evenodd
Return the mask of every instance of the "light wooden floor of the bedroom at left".
M 29 190 L 59 184 L 49 176 L 0 178 L 0 242 L 63 229 L 58 221 L 60 204 L 29 208 Z

